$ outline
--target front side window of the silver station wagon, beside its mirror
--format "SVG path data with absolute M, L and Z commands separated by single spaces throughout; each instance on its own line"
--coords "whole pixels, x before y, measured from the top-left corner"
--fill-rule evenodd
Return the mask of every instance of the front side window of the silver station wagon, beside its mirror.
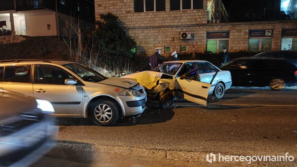
M 64 85 L 65 79 L 72 79 L 72 75 L 57 67 L 48 65 L 36 65 L 36 83 Z

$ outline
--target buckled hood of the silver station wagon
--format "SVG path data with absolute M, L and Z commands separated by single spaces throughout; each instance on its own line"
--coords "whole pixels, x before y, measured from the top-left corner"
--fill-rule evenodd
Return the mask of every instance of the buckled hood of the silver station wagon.
M 107 78 L 103 81 L 100 81 L 99 83 L 113 85 L 113 86 L 119 86 L 122 88 L 130 88 L 130 87 L 137 85 L 137 81 L 132 78 Z

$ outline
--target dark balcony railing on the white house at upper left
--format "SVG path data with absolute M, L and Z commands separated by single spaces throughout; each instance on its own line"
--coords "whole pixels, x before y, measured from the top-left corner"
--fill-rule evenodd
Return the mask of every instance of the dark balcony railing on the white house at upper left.
M 15 10 L 37 10 L 37 9 L 44 9 L 43 0 L 16 0 L 15 1 Z

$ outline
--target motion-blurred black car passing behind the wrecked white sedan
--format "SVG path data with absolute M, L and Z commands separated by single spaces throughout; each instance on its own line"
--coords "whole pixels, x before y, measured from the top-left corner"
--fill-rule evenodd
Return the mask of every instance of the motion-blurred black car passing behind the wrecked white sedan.
M 232 86 L 270 86 L 282 89 L 297 83 L 297 67 L 286 59 L 243 57 L 220 67 L 232 76 Z

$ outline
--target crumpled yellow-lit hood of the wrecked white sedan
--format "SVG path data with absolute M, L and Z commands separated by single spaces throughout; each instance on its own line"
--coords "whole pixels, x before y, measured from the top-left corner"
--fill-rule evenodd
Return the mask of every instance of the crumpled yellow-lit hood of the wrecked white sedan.
M 151 90 L 157 85 L 157 81 L 162 77 L 163 73 L 155 71 L 142 71 L 129 75 L 122 76 L 121 78 L 135 78 L 138 83 L 144 86 L 146 89 Z

